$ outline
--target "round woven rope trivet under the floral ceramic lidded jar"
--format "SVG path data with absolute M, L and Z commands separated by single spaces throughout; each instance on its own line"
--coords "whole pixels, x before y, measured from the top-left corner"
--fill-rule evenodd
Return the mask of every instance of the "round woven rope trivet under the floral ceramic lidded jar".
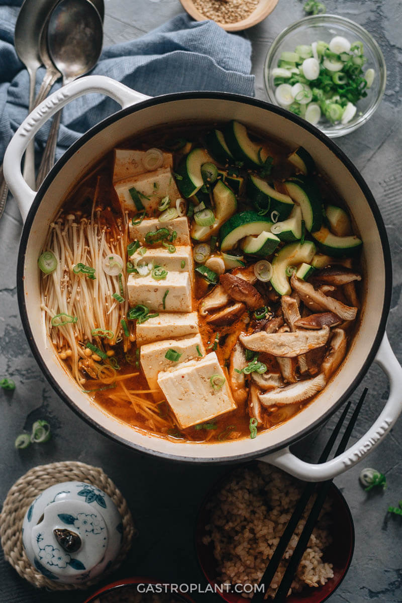
M 74 480 L 92 484 L 101 488 L 101 490 L 108 494 L 118 508 L 123 523 L 122 548 L 115 563 L 111 565 L 107 572 L 103 572 L 98 578 L 85 582 L 82 586 L 78 586 L 77 584 L 58 584 L 57 582 L 49 580 L 49 578 L 45 578 L 45 576 L 38 572 L 36 568 L 31 565 L 30 561 L 28 561 L 24 547 L 22 546 L 22 521 L 34 498 L 51 485 Z M 127 502 L 118 488 L 116 488 L 115 484 L 113 484 L 111 479 L 108 478 L 99 467 L 92 467 L 85 463 L 77 463 L 75 461 L 40 465 L 39 467 L 31 469 L 28 473 L 25 473 L 25 475 L 19 478 L 13 487 L 11 487 L 0 514 L 0 537 L 1 546 L 4 550 L 4 557 L 11 563 L 22 578 L 25 578 L 37 588 L 46 587 L 51 590 L 76 590 L 87 589 L 89 586 L 96 584 L 96 582 L 103 579 L 107 573 L 117 569 L 122 561 L 124 561 L 127 552 L 130 550 L 133 534 L 133 517 L 131 517 Z

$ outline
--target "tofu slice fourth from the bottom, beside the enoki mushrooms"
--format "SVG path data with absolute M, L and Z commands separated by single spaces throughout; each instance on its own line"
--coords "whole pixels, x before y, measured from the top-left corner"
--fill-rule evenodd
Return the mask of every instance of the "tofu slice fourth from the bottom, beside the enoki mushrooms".
M 148 276 L 129 274 L 127 280 L 130 306 L 142 304 L 151 312 L 191 312 L 191 283 L 187 272 L 169 272 L 166 279 L 152 279 Z M 163 297 L 165 308 L 163 308 Z

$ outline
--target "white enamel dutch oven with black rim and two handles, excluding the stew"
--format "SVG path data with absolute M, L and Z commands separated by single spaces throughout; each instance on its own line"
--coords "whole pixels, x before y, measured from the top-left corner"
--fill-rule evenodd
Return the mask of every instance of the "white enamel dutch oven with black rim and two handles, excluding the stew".
M 20 162 L 30 139 L 65 104 L 89 92 L 118 101 L 122 110 L 84 134 L 64 154 L 36 193 L 24 182 Z M 344 198 L 362 236 L 366 271 L 361 324 L 347 361 L 314 402 L 295 417 L 257 438 L 216 444 L 180 443 L 146 435 L 116 420 L 80 391 L 63 368 L 45 335 L 40 311 L 39 257 L 49 223 L 66 194 L 81 175 L 128 137 L 148 128 L 164 131 L 178 122 L 237 119 L 265 131 L 295 148 L 312 154 L 319 171 L 327 175 Z M 385 437 L 402 410 L 402 368 L 385 335 L 391 298 L 391 256 L 377 204 L 363 178 L 341 150 L 315 127 L 278 107 L 246 96 L 224 93 L 180 93 L 149 98 L 106 77 L 81 78 L 55 92 L 20 125 L 4 157 L 4 175 L 25 220 L 20 242 L 17 287 L 25 333 L 40 367 L 60 397 L 90 425 L 127 446 L 179 461 L 206 463 L 242 461 L 260 457 L 301 479 L 329 479 L 358 463 Z M 372 362 L 388 376 L 390 393 L 369 431 L 342 455 L 324 464 L 308 464 L 291 452 L 294 443 L 323 423 L 359 384 Z M 380 411 L 380 408 L 378 409 Z

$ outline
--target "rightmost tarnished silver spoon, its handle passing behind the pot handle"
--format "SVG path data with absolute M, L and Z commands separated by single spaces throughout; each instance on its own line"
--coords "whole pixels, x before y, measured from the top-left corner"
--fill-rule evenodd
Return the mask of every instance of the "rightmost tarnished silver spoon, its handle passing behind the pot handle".
M 48 52 L 63 76 L 63 86 L 95 67 L 102 51 L 103 27 L 89 0 L 61 0 L 48 23 Z M 42 184 L 54 164 L 61 111 L 53 118 L 36 185 Z

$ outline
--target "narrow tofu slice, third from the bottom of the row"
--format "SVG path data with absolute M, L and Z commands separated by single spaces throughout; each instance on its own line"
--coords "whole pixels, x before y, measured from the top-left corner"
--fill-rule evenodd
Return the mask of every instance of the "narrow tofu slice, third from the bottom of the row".
M 137 346 L 161 339 L 195 335 L 198 332 L 197 312 L 176 312 L 175 314 L 161 312 L 159 316 L 148 318 L 145 323 L 137 323 Z

